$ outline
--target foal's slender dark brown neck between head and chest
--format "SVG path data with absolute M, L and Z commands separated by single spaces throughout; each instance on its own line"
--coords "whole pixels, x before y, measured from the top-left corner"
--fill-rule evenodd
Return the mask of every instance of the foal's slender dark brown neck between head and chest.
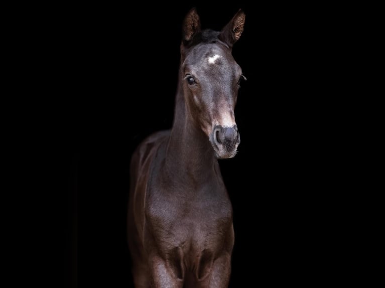
M 186 112 L 182 93 L 179 85 L 165 164 L 168 171 L 182 179 L 205 182 L 208 177 L 218 173 L 218 161 L 208 136 Z

